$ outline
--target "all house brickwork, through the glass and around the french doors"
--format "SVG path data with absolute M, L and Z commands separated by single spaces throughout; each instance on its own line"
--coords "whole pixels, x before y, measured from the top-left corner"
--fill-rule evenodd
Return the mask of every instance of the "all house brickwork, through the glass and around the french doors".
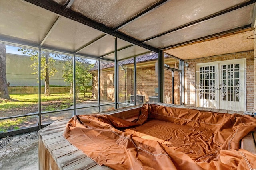
M 153 54 L 156 55 L 156 54 Z M 140 56 L 141 60 L 137 60 L 137 95 L 145 95 L 144 103 L 149 102 L 150 96 L 157 96 L 158 88 L 158 74 L 155 70 L 158 57 L 147 60 L 150 55 Z M 142 59 L 144 57 L 144 59 Z M 254 51 L 244 51 L 240 53 L 231 53 L 225 55 L 217 55 L 212 57 L 205 57 L 201 59 L 186 60 L 189 63 L 188 70 L 184 68 L 184 104 L 196 105 L 196 71 L 195 65 L 197 63 L 208 63 L 218 61 L 228 61 L 233 59 L 247 59 L 246 60 L 246 108 L 245 110 L 252 111 L 254 108 L 254 72 L 255 64 Z M 133 59 L 133 58 L 132 58 Z M 122 61 L 123 62 L 123 61 Z M 122 62 L 120 64 L 122 64 Z M 127 102 L 130 100 L 130 95 L 134 94 L 134 64 L 124 62 L 126 73 L 119 69 L 119 102 Z M 173 63 L 165 59 L 165 63 L 172 68 L 178 68 L 177 62 Z M 100 99 L 102 102 L 114 102 L 114 65 L 113 63 L 103 63 L 100 74 Z M 97 92 L 97 64 L 91 70 L 93 75 L 93 91 Z M 172 72 L 165 70 L 165 89 L 164 96 L 166 103 L 172 103 Z M 126 76 L 125 76 L 126 74 Z M 125 78 L 126 77 L 126 78 Z M 126 89 L 126 90 L 125 90 Z M 97 98 L 97 93 L 94 93 L 94 98 Z M 180 104 L 180 76 L 178 72 L 174 72 L 174 104 Z

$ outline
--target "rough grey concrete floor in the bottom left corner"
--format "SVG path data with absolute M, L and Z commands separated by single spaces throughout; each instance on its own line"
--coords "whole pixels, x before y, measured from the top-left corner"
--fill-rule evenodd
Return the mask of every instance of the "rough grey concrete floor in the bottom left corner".
M 37 131 L 0 139 L 0 156 L 1 170 L 37 170 Z

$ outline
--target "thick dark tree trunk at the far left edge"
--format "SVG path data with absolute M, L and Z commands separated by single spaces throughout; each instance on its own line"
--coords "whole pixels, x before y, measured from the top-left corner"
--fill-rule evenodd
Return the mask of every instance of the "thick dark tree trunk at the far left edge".
M 4 44 L 0 44 L 0 98 L 11 99 L 6 78 L 6 49 Z

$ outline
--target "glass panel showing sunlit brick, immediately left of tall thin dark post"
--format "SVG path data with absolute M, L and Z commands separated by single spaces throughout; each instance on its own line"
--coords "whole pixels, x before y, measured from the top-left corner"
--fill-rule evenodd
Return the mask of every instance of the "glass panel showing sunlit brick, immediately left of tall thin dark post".
M 114 66 L 114 62 L 100 60 L 100 105 L 115 102 Z

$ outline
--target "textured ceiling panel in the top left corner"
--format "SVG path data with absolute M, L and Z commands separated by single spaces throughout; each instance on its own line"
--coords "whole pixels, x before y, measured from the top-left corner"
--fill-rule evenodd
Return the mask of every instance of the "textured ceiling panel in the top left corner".
M 1 37 L 39 44 L 54 21 L 56 14 L 22 0 L 0 1 Z

